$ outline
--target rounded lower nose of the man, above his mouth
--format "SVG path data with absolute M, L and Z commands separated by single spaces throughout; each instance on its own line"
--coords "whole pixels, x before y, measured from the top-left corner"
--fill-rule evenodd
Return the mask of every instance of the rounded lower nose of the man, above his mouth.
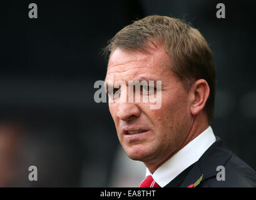
M 117 116 L 123 121 L 131 121 L 140 117 L 140 108 L 134 103 L 119 103 Z

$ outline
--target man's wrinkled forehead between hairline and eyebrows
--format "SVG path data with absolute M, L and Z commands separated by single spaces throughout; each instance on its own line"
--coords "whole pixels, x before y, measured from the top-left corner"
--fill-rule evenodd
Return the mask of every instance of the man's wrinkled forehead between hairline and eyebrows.
M 170 71 L 170 58 L 163 49 L 151 49 L 148 53 L 116 49 L 108 62 L 107 77 L 134 79 L 135 76 L 150 76 L 161 79 Z

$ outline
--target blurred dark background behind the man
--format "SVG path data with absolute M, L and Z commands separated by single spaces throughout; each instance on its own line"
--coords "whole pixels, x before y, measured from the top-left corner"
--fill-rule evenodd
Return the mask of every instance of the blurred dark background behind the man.
M 29 19 L 28 5 L 38 6 Z M 256 169 L 254 1 L 1 1 L 0 186 L 108 187 L 120 148 L 101 49 L 133 20 L 159 14 L 202 32 L 217 71 L 214 133 Z M 28 180 L 37 166 L 38 181 Z M 144 174 L 143 174 L 144 176 Z

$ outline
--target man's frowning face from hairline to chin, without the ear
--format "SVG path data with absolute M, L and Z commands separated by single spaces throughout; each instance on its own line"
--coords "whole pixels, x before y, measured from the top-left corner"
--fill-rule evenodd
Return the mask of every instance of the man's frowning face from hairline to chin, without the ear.
M 126 154 L 144 163 L 161 163 L 182 146 L 190 131 L 190 98 L 180 80 L 170 69 L 170 58 L 163 49 L 150 54 L 116 49 L 111 54 L 106 84 L 116 81 L 161 81 L 161 108 L 150 109 L 148 103 L 109 103 L 118 139 Z M 128 87 L 127 87 L 128 88 Z M 142 96 L 143 94 L 141 94 Z M 132 133 L 130 131 L 138 131 Z M 142 130 L 142 131 L 141 131 Z

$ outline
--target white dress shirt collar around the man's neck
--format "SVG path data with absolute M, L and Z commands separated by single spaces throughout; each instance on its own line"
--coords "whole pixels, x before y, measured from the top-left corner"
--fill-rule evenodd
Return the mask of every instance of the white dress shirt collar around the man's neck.
M 215 141 L 216 138 L 212 128 L 208 126 L 197 138 L 190 141 L 190 143 L 173 155 L 172 158 L 168 159 L 168 161 L 156 169 L 155 173 L 151 174 L 148 168 L 146 168 L 146 176 L 151 175 L 159 186 L 166 186 L 178 174 L 197 162 Z

